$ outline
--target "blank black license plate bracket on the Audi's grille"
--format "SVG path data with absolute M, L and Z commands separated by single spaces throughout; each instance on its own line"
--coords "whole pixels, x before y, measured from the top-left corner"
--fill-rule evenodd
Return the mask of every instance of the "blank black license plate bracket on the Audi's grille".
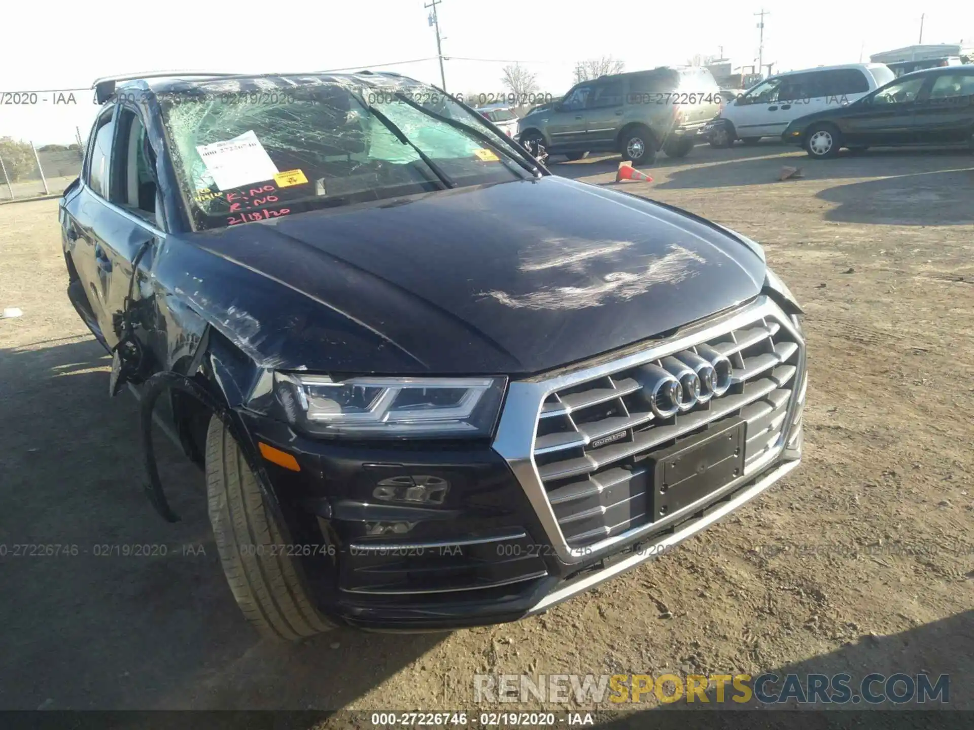
M 653 522 L 678 512 L 744 473 L 747 421 L 739 417 L 711 424 L 647 459 L 653 475 Z

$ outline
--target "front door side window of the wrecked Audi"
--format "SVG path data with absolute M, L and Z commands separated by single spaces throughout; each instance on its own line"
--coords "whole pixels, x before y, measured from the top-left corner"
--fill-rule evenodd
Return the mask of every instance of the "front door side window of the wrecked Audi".
M 110 201 L 143 217 L 155 219 L 156 183 L 151 170 L 145 127 L 131 109 L 120 108 L 116 118 L 119 129 L 112 156 Z

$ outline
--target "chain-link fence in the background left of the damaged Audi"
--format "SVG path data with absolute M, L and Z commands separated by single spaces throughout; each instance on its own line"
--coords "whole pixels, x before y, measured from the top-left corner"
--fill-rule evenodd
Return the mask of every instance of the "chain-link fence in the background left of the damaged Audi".
M 85 148 L 80 133 L 71 145 L 38 148 L 30 140 L 0 138 L 0 201 L 60 195 L 81 174 Z

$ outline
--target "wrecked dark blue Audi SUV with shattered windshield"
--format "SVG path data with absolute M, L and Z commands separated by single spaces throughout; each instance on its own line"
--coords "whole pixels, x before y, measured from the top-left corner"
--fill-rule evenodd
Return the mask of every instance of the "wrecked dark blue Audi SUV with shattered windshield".
M 68 296 L 173 521 L 171 401 L 264 633 L 540 613 L 798 465 L 802 310 L 749 238 L 554 176 L 398 75 L 95 88 Z

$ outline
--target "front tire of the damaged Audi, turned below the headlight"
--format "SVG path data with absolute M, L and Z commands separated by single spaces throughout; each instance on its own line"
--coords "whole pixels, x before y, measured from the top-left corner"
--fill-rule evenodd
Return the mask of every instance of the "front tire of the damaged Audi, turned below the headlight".
M 206 431 L 206 493 L 220 563 L 246 620 L 266 637 L 289 641 L 333 629 L 305 591 L 294 559 L 271 548 L 287 543 L 285 532 L 215 416 Z

